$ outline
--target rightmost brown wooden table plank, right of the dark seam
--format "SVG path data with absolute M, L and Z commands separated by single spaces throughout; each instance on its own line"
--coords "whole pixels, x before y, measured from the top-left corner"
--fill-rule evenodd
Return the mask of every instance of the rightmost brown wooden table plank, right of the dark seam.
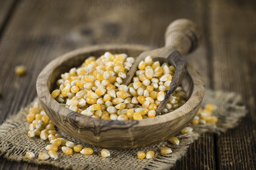
M 227 8 L 211 12 L 211 34 L 222 38 L 213 42 L 214 88 L 241 94 L 249 113 L 239 127 L 218 137 L 218 168 L 252 170 L 256 168 L 256 3 L 227 2 Z

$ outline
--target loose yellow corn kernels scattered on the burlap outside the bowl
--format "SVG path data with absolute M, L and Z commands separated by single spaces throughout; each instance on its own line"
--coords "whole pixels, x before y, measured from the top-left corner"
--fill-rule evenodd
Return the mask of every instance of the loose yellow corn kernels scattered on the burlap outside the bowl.
M 200 109 L 198 111 L 198 116 L 200 120 L 205 120 L 207 122 L 213 122 L 216 123 L 218 122 L 218 118 L 215 116 L 212 116 L 212 112 L 215 109 L 212 109 L 212 105 L 208 104 L 206 107 L 203 109 Z M 205 116 L 205 113 L 209 115 Z M 206 118 L 207 117 L 207 118 Z M 206 120 L 207 119 L 207 120 Z M 75 153 L 81 153 L 83 155 L 92 155 L 93 154 L 93 149 L 90 147 L 85 147 L 83 148 L 81 144 L 75 144 L 74 142 L 68 141 L 67 139 L 64 139 L 59 133 L 57 133 L 55 129 L 54 123 L 49 120 L 49 117 L 46 115 L 46 113 L 43 111 L 43 108 L 41 107 L 40 103 L 34 103 L 32 108 L 29 108 L 29 113 L 26 116 L 27 122 L 29 122 L 29 131 L 27 135 L 29 137 L 40 137 L 44 141 L 49 141 L 49 144 L 45 147 L 45 149 L 48 151 L 46 152 L 41 152 L 38 154 L 38 160 L 47 160 L 51 158 L 52 160 L 58 159 L 58 153 L 57 151 L 59 149 L 62 150 L 63 153 L 66 155 L 71 155 L 73 154 L 73 151 Z M 195 123 L 195 120 L 197 118 L 194 118 L 192 121 L 192 124 L 198 125 L 199 123 Z M 199 121 L 201 124 L 201 121 Z M 182 134 L 189 134 L 193 130 L 192 127 L 185 127 L 183 130 L 180 131 Z M 180 140 L 177 137 L 172 137 L 169 142 L 171 144 L 179 145 Z M 172 153 L 172 149 L 169 147 L 162 147 L 160 150 L 160 153 L 165 155 L 165 154 L 170 154 Z M 151 159 L 154 157 L 155 152 L 153 150 L 148 150 L 146 153 L 143 151 L 138 151 L 137 157 L 139 159 Z M 107 149 L 102 149 L 101 150 L 101 156 L 103 158 L 108 158 L 111 156 L 111 153 Z M 35 158 L 35 153 L 28 151 L 26 152 L 26 158 L 28 159 L 34 159 Z

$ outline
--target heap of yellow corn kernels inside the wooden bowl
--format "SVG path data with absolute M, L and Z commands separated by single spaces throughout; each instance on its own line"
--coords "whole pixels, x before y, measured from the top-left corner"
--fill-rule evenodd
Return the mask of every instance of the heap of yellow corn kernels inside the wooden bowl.
M 87 58 L 79 68 L 61 74 L 51 95 L 61 105 L 86 116 L 108 120 L 140 120 L 156 116 L 175 72 L 173 65 L 160 65 L 150 56 L 141 61 L 130 85 L 122 85 L 135 59 L 127 54 L 106 52 Z M 161 113 L 185 103 L 178 87 Z

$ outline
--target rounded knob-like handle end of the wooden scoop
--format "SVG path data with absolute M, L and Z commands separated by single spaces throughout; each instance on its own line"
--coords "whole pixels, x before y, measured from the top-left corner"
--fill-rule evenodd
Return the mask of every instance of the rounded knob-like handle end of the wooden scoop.
M 177 19 L 167 28 L 165 33 L 165 47 L 174 48 L 181 55 L 189 54 L 198 46 L 198 28 L 188 19 Z

